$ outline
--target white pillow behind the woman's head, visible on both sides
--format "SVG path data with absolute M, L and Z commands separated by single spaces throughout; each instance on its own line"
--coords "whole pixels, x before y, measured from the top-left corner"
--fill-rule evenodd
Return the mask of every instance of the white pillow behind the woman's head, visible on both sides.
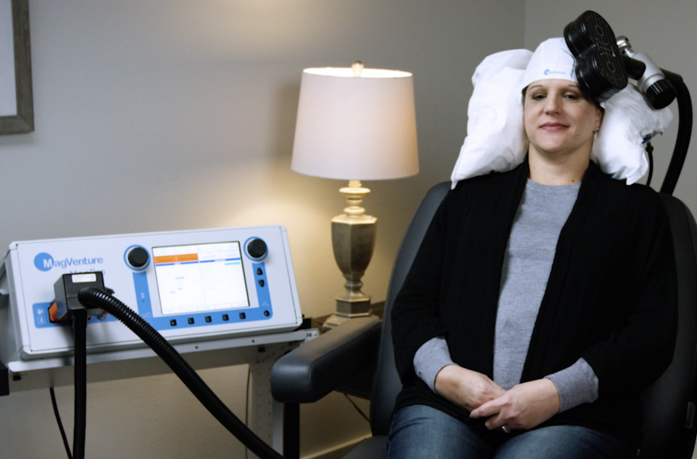
M 519 84 L 532 54 L 528 49 L 498 52 L 477 66 L 467 109 L 468 135 L 450 177 L 453 188 L 459 180 L 510 171 L 525 159 L 528 139 Z M 645 137 L 664 132 L 673 114 L 667 107 L 651 109 L 631 82 L 604 106 L 591 159 L 604 173 L 618 180 L 626 178 L 631 185 L 648 170 Z

